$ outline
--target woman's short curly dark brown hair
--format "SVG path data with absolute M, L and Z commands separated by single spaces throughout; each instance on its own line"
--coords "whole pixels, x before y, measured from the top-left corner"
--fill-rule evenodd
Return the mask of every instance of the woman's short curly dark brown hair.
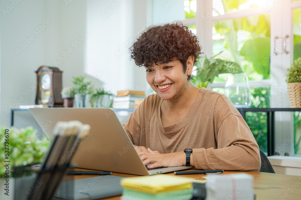
M 154 64 L 179 60 L 184 73 L 189 56 L 194 57 L 195 63 L 201 49 L 197 36 L 182 22 L 148 28 L 129 48 L 131 58 L 139 67 L 149 68 Z

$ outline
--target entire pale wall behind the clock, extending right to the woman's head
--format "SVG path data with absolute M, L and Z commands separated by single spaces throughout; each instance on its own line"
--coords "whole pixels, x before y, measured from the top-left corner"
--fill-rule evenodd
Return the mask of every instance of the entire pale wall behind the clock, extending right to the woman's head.
M 12 0 L 0 1 L 1 126 L 10 125 L 11 108 L 35 103 L 34 71 L 41 65 L 55 66 L 55 61 L 62 61 L 59 57 L 69 48 L 72 52 L 57 65 L 63 71 L 63 87 L 71 86 L 73 76 L 95 77 L 100 71 L 101 76 L 94 82 L 96 87 L 104 86 L 113 92 L 145 90 L 144 70 L 135 67 L 127 52 L 118 56 L 116 52 L 124 45 L 129 47 L 136 32 L 147 27 L 146 1 L 121 0 L 120 4 L 117 0 L 81 0 L 68 4 L 69 0 L 13 1 L 16 5 Z M 116 8 L 112 9 L 114 5 Z M 107 8 L 113 11 L 104 18 Z M 3 10 L 8 11 L 3 13 Z M 44 20 L 48 20 L 47 26 Z M 43 23 L 46 27 L 37 34 L 36 28 Z M 83 34 L 88 36 L 85 38 Z M 20 44 L 29 41 L 30 36 L 34 39 L 18 54 L 16 48 L 20 49 Z M 82 38 L 85 39 L 76 46 L 74 41 Z M 19 115 L 22 123 L 19 126 L 30 124 L 30 114 Z

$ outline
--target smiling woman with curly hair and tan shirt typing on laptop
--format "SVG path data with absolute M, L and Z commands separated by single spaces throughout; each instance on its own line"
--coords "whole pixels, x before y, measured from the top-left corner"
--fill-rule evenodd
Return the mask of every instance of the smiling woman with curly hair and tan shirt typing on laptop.
M 156 92 L 123 124 L 144 165 L 259 171 L 259 147 L 230 100 L 191 84 L 201 48 L 186 26 L 149 28 L 130 50 Z

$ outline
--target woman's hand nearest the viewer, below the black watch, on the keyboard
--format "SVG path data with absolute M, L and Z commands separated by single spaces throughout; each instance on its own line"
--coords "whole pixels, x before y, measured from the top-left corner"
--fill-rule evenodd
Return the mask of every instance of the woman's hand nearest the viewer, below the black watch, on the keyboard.
M 156 167 L 175 167 L 186 164 L 186 154 L 184 151 L 160 154 L 157 151 L 152 151 L 150 148 L 147 148 L 147 151 L 140 151 L 138 154 L 144 165 L 153 163 L 147 166 L 149 169 Z

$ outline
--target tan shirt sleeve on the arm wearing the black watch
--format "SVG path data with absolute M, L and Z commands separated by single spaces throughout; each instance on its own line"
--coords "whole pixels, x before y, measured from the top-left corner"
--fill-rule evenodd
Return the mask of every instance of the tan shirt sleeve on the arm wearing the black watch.
M 222 100 L 225 101 L 223 98 Z M 228 104 L 231 112 L 215 111 L 214 134 L 217 148 L 193 149 L 193 161 L 197 169 L 259 171 L 259 147 L 247 123 L 232 106 Z

